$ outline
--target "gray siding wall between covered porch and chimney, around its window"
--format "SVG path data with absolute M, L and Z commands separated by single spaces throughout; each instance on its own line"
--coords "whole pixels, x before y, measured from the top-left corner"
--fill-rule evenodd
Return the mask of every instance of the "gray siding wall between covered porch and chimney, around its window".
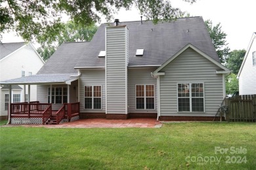
M 102 86 L 102 109 L 85 109 L 85 86 Z M 90 69 L 81 71 L 80 76 L 80 112 L 106 112 L 105 70 Z

